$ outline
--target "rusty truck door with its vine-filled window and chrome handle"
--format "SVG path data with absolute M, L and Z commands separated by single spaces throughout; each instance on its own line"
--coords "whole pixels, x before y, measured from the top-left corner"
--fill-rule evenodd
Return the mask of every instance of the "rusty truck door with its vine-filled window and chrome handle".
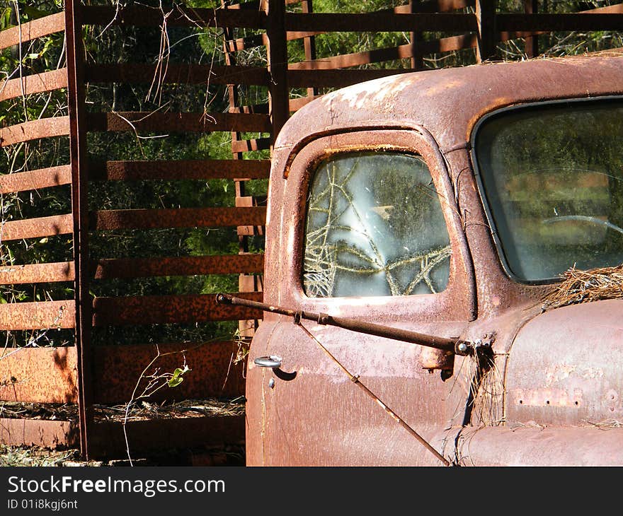
M 424 131 L 320 137 L 270 181 L 265 303 L 443 337 L 473 319 L 455 195 Z M 248 363 L 249 465 L 440 464 L 382 404 L 452 451 L 464 392 L 445 352 L 265 313 Z

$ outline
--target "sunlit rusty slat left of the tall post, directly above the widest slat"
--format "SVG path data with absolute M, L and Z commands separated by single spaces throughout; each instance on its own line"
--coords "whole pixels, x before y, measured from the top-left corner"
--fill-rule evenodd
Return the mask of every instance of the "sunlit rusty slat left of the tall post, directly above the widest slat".
M 74 328 L 74 307 L 72 300 L 6 303 L 0 305 L 0 329 Z

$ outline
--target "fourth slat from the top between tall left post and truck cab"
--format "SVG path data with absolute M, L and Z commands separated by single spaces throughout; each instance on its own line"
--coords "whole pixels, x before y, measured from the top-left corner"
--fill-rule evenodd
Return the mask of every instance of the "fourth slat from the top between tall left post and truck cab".
M 265 179 L 270 160 L 107 161 L 91 163 L 88 173 L 108 181 Z

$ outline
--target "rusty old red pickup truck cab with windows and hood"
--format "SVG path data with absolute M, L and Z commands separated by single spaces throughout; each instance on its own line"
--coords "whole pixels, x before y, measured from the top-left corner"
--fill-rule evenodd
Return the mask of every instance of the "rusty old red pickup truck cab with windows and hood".
M 324 95 L 268 203 L 248 465 L 623 464 L 623 57 Z

